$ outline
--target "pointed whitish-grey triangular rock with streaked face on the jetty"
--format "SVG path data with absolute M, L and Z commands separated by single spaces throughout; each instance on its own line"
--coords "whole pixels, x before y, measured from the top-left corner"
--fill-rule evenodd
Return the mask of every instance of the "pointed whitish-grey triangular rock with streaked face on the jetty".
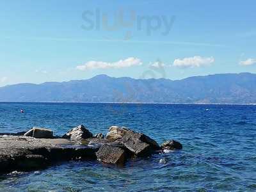
M 62 138 L 70 139 L 70 140 L 83 140 L 92 138 L 93 134 L 92 132 L 88 131 L 84 125 L 79 125 L 70 131 L 68 131 L 65 135 L 62 136 Z

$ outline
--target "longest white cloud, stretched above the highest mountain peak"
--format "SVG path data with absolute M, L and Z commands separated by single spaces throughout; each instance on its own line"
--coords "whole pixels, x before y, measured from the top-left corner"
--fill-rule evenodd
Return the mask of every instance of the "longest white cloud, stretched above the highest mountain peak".
M 97 68 L 124 68 L 142 65 L 141 60 L 138 58 L 127 58 L 126 60 L 120 60 L 113 63 L 104 61 L 88 61 L 84 65 L 79 65 L 76 68 L 78 70 L 93 70 Z

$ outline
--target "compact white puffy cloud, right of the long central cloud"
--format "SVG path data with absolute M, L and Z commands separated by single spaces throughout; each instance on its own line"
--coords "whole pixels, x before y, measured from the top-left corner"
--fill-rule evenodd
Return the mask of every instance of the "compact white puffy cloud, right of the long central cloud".
M 201 56 L 194 56 L 193 58 L 176 59 L 173 61 L 173 66 L 182 68 L 203 67 L 211 65 L 214 61 L 213 57 L 203 58 Z

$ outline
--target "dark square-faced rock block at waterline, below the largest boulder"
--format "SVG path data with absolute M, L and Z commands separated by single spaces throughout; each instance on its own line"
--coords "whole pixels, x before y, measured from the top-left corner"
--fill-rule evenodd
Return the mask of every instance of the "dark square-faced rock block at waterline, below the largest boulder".
M 112 145 L 102 145 L 96 156 L 102 163 L 124 164 L 125 162 L 125 150 Z

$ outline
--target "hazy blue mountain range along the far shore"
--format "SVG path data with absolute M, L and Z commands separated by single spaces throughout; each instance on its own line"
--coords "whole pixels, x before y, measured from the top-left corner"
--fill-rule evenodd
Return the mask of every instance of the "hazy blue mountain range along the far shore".
M 4 86 L 0 101 L 250 104 L 256 103 L 256 74 L 215 74 L 179 81 L 100 75 L 63 83 Z

